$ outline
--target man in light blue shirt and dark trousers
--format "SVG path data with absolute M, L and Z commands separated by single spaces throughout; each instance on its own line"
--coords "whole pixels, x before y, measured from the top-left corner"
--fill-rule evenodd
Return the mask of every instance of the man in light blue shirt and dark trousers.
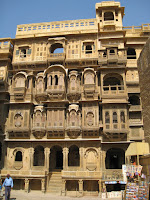
M 7 174 L 7 178 L 3 183 L 3 187 L 5 187 L 5 200 L 10 199 L 10 191 L 13 188 L 13 179 L 10 177 L 10 174 Z

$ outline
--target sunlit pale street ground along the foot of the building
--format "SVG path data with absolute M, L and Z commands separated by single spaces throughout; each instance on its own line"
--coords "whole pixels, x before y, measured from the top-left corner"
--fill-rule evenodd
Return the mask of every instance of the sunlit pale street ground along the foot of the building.
M 3 197 L 3 200 L 5 198 Z M 26 193 L 21 190 L 12 190 L 10 200 L 100 200 L 100 197 L 68 197 L 68 196 L 57 196 L 50 193 L 43 194 L 41 191 L 32 191 L 30 193 Z M 0 198 L 2 200 L 2 198 Z M 110 199 L 106 199 L 110 200 Z M 121 200 L 121 198 L 111 198 L 111 200 Z

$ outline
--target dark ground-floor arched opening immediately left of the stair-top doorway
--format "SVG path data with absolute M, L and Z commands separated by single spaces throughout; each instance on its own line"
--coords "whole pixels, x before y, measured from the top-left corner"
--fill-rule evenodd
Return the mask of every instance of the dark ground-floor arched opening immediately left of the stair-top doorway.
M 44 166 L 44 148 L 37 146 L 34 150 L 34 166 Z

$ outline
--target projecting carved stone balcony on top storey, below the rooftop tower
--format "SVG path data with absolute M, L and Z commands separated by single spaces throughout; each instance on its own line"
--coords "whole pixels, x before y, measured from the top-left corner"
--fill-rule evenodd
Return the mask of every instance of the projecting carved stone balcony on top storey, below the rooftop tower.
M 99 50 L 98 63 L 101 65 L 108 65 L 108 67 L 114 67 L 114 64 L 126 64 L 127 63 L 127 54 L 125 49 L 115 49 L 113 53 L 110 52 L 110 49 Z M 116 66 L 118 67 L 118 66 Z

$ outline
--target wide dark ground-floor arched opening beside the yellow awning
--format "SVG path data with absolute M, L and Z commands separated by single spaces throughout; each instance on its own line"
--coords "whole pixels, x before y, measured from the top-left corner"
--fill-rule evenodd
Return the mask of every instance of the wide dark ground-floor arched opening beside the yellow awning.
M 106 169 L 122 169 L 125 163 L 125 152 L 123 149 L 111 148 L 106 153 Z

